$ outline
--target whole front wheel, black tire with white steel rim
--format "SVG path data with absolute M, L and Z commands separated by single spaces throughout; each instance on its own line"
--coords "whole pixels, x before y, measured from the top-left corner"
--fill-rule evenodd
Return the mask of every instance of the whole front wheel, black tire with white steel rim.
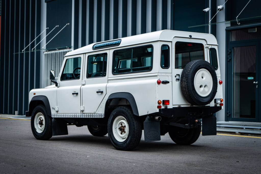
M 48 140 L 52 137 L 52 118 L 47 115 L 43 105 L 34 108 L 31 117 L 31 129 L 38 140 Z

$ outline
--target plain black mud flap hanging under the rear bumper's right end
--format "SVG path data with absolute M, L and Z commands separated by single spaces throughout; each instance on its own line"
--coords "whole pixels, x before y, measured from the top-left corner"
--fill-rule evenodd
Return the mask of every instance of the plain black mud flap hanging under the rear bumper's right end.
M 202 135 L 217 135 L 217 118 L 215 116 L 202 118 Z

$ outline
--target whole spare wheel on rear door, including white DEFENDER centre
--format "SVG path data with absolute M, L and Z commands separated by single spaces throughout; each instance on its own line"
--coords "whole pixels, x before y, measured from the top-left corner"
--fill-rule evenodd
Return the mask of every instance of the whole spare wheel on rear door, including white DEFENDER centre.
M 209 104 L 217 93 L 217 75 L 212 65 L 204 60 L 189 62 L 180 78 L 184 98 L 192 105 Z

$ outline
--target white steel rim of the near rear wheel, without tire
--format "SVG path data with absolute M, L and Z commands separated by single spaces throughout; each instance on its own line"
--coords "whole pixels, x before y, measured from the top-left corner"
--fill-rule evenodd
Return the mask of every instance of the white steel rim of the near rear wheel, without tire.
M 117 141 L 125 141 L 129 134 L 129 125 L 126 118 L 123 116 L 116 117 L 112 124 L 112 132 Z

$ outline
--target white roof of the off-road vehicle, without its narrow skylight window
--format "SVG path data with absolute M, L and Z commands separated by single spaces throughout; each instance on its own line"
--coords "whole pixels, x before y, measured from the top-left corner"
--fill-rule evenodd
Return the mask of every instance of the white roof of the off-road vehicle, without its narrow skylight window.
M 103 48 L 103 49 L 93 50 L 92 46 L 94 44 L 102 43 L 104 41 L 93 43 L 93 44 L 81 47 L 79 49 L 70 51 L 65 56 L 78 55 L 78 54 L 83 54 L 83 53 L 88 53 L 88 52 L 107 50 L 107 49 L 112 49 L 112 48 L 116 48 L 116 47 L 136 45 L 136 44 L 148 43 L 148 42 L 153 42 L 153 41 L 172 41 L 174 37 L 190 38 L 189 35 L 191 35 L 192 38 L 194 38 L 194 39 L 204 39 L 204 40 L 206 40 L 206 43 L 209 45 L 217 45 L 217 40 L 216 40 L 215 36 L 212 34 L 174 31 L 174 30 L 161 30 L 161 31 L 155 31 L 155 32 L 151 32 L 151 33 L 144 33 L 144 34 L 129 36 L 129 37 L 125 37 L 125 38 L 120 38 L 121 43 L 119 46 L 112 46 L 112 47 L 107 47 L 107 48 Z M 117 39 L 114 39 L 114 40 L 117 40 Z M 112 41 L 112 40 L 110 40 L 110 41 Z

